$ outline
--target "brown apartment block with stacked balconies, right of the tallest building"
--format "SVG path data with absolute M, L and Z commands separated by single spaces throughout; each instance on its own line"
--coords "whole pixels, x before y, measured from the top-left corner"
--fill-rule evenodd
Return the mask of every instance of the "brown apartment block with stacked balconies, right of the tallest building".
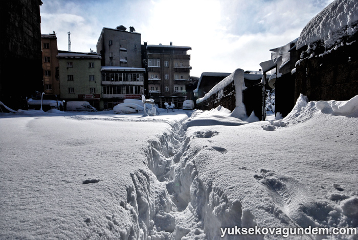
M 174 103 L 177 108 L 187 99 L 190 80 L 190 46 L 146 45 L 148 94 L 159 107 Z

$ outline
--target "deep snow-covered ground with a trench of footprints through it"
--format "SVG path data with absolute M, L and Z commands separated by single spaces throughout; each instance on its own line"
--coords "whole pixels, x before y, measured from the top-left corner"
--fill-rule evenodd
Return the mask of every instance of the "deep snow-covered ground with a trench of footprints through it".
M 2 114 L 0 238 L 221 239 L 220 228 L 234 226 L 357 228 L 357 106 L 358 97 L 301 96 L 286 118 L 265 122 L 221 107 L 151 117 Z

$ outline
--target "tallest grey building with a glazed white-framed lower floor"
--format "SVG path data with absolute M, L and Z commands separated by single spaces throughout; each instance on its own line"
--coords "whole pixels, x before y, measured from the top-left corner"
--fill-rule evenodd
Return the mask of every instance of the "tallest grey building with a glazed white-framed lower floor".
M 133 27 L 126 30 L 122 25 L 103 28 L 97 42 L 104 109 L 113 109 L 124 99 L 141 99 L 144 94 L 141 34 Z

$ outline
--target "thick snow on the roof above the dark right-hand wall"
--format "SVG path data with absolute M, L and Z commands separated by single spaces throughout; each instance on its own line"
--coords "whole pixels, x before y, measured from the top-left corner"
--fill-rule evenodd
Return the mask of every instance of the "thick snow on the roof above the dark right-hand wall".
M 351 36 L 357 32 L 354 23 L 358 21 L 358 1 L 335 0 L 304 27 L 297 41 L 297 49 L 322 40 L 329 48 L 343 36 Z

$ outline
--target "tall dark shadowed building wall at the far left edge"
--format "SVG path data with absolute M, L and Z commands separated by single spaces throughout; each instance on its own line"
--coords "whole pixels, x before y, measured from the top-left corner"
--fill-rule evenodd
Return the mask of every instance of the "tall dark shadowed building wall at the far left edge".
M 4 0 L 0 8 L 0 101 L 26 108 L 26 97 L 42 91 L 39 0 Z

